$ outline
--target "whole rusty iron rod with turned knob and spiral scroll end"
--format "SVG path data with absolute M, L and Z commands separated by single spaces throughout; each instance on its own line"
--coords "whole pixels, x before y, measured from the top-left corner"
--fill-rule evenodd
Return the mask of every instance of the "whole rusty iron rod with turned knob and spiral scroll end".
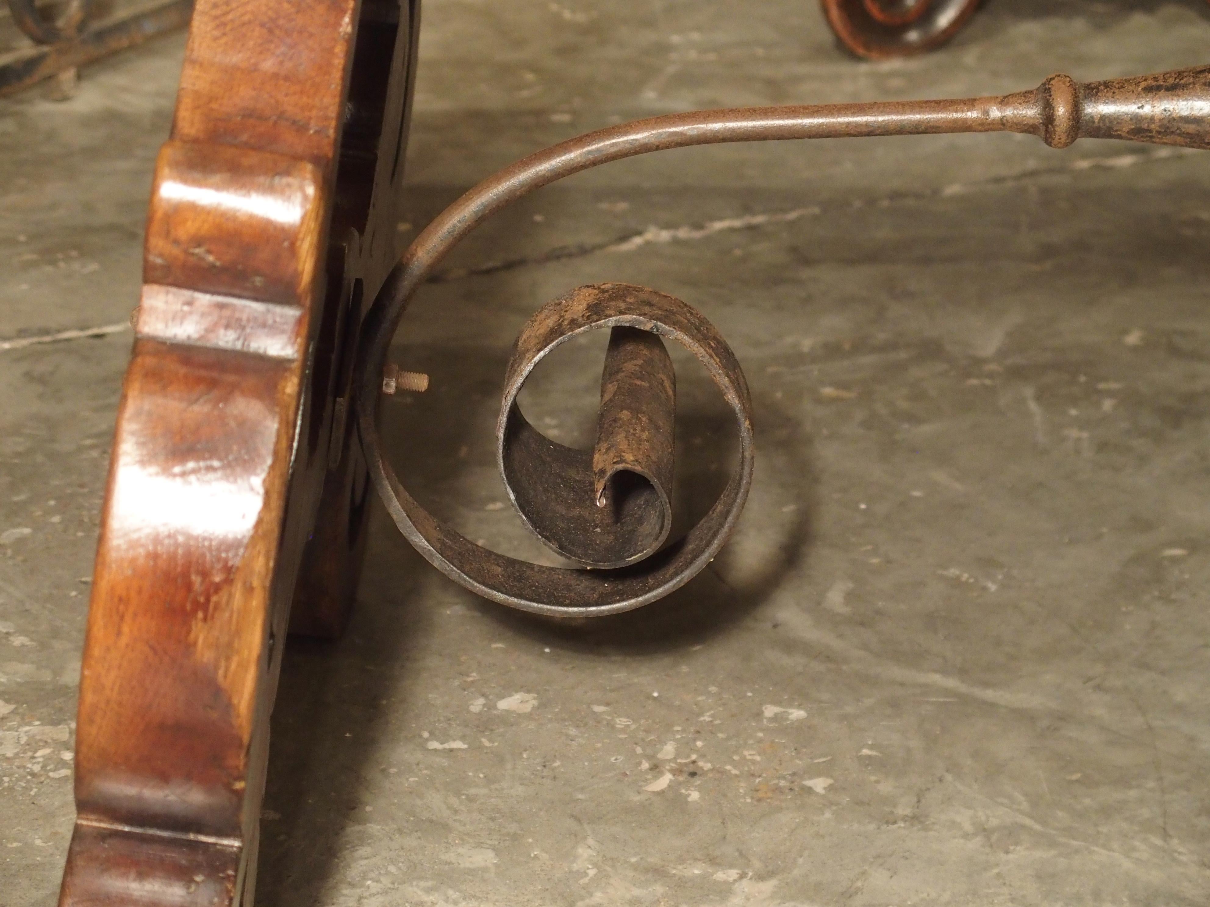
M 450 249 L 491 214 L 535 189 L 610 161 L 724 141 L 957 132 L 1030 133 L 1053 148 L 1079 138 L 1210 148 L 1210 67 L 1087 85 L 1055 75 L 1032 91 L 1002 97 L 673 114 L 569 139 L 489 177 L 404 252 L 374 300 L 361 337 L 358 433 L 374 485 L 401 531 L 433 566 L 468 589 L 544 614 L 627 611 L 688 582 L 726 542 L 751 484 L 748 385 L 714 327 L 680 300 L 627 284 L 582 287 L 543 306 L 526 324 L 506 375 L 497 460 L 526 525 L 555 551 L 583 565 L 547 567 L 476 545 L 437 520 L 408 493 L 384 456 L 378 432 L 384 369 L 413 295 Z M 547 352 L 575 334 L 604 328 L 620 333 L 606 360 L 598 449 L 590 454 L 541 435 L 515 398 Z M 667 502 L 674 380 L 659 342 L 643 334 L 676 340 L 707 366 L 734 411 L 739 435 L 739 464 L 726 489 L 697 526 L 672 542 L 666 536 L 672 521 Z M 635 476 L 628 480 L 632 496 L 626 499 L 609 485 L 618 470 Z

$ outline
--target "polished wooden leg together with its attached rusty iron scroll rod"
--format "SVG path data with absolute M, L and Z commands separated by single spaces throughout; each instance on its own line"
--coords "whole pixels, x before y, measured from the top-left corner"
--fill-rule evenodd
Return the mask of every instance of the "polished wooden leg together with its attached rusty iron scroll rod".
M 417 5 L 201 0 L 156 167 L 137 336 L 117 416 L 80 688 L 77 820 L 63 907 L 253 902 L 269 718 L 287 630 L 338 634 L 369 486 L 434 566 L 555 616 L 647 603 L 725 543 L 748 495 L 748 386 L 726 341 L 643 287 L 570 290 L 525 325 L 497 460 L 523 520 L 583 568 L 474 545 L 401 484 L 376 428 L 416 289 L 484 219 L 571 173 L 685 145 L 1024 132 L 1210 146 L 1210 68 L 1001 98 L 656 117 L 540 151 L 455 202 L 396 259 L 394 200 Z M 392 267 L 393 265 L 393 267 Z M 368 305 L 369 300 L 373 305 Z M 547 352 L 611 330 L 593 451 L 530 426 L 517 393 Z M 731 405 L 739 463 L 670 541 L 675 376 L 685 346 Z

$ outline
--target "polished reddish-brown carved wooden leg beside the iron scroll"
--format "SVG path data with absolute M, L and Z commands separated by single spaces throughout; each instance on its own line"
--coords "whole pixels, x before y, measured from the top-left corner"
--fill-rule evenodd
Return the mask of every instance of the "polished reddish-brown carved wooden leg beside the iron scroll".
M 295 629 L 339 632 L 359 568 L 350 346 L 397 252 L 416 12 L 197 4 L 103 512 L 63 907 L 252 903 L 292 601 Z

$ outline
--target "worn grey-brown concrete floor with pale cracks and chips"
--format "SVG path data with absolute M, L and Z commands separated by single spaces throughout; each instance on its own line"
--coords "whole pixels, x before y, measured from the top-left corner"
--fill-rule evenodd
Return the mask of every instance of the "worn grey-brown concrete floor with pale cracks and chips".
M 1205 63 L 1208 40 L 1200 0 L 991 0 L 940 53 L 868 64 L 807 0 L 428 0 L 409 221 L 624 119 L 1133 75 Z M 0 336 L 126 319 L 182 46 L 92 67 L 68 103 L 0 102 Z M 378 513 L 347 637 L 286 658 L 258 903 L 1206 903 L 1208 163 L 1004 135 L 698 149 L 472 237 L 399 336 L 433 379 L 387 429 L 425 501 L 541 556 L 500 507 L 503 362 L 535 307 L 604 279 L 730 339 L 753 496 L 705 574 L 586 624 L 473 597 Z M 54 902 L 71 828 L 129 342 L 0 352 L 11 907 Z M 583 352 L 529 393 L 563 440 L 593 417 Z M 680 387 L 692 509 L 727 415 L 704 375 Z M 517 693 L 530 711 L 499 705 Z

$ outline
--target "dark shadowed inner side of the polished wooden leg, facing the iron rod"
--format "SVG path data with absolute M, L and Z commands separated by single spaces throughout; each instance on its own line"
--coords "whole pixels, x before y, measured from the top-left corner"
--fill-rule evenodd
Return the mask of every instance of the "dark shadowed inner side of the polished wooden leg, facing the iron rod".
M 334 637 L 348 619 L 365 551 L 369 498 L 365 457 L 357 440 L 353 360 L 370 301 L 402 252 L 399 186 L 411 119 L 420 39 L 420 0 L 363 0 L 347 109 L 356 111 L 340 148 L 336 208 L 328 247 L 329 296 L 340 304 L 324 318 L 312 386 L 327 383 L 328 472 L 290 611 L 290 634 Z M 340 319 L 339 322 L 336 319 Z M 318 398 L 319 393 L 312 394 Z

